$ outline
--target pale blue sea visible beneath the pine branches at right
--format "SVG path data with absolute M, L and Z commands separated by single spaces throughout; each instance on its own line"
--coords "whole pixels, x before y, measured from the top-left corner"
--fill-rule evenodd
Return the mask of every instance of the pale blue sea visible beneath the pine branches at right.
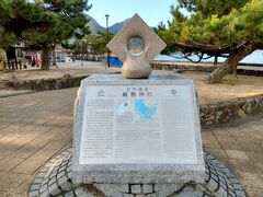
M 180 54 L 173 54 L 175 57 L 180 57 Z M 181 59 L 181 58 L 175 58 L 167 55 L 158 55 L 155 60 L 167 60 L 167 61 L 188 61 L 187 59 Z M 206 56 L 204 56 L 206 57 Z M 191 56 L 191 59 L 197 61 L 198 57 L 197 56 Z M 218 57 L 218 62 L 224 62 L 226 58 Z M 203 62 L 213 62 L 214 57 L 209 59 L 204 59 L 202 60 Z M 263 50 L 255 50 L 251 55 L 247 56 L 244 59 L 240 61 L 241 63 L 255 63 L 255 65 L 262 65 L 263 66 Z

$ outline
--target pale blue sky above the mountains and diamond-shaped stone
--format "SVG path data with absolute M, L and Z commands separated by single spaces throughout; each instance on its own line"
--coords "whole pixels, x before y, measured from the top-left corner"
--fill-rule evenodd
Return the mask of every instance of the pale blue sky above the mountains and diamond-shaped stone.
M 93 4 L 88 12 L 96 22 L 106 26 L 105 14 L 110 14 L 110 26 L 138 13 L 149 26 L 171 20 L 170 5 L 176 0 L 89 0 Z

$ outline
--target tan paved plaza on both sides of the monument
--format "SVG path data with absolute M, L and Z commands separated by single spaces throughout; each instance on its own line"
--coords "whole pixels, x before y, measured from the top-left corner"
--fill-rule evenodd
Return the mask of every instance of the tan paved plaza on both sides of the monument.
M 35 174 L 71 147 L 78 89 L 0 99 L 0 197 L 26 196 Z M 263 115 L 204 127 L 204 149 L 225 163 L 249 196 L 263 194 Z

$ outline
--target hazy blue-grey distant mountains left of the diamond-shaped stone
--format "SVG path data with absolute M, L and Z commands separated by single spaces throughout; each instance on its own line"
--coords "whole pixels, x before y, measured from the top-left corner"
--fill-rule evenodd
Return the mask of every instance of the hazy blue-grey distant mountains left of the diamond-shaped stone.
M 96 32 L 106 32 L 106 28 L 101 26 L 93 18 L 89 16 L 90 19 L 90 22 L 89 22 L 89 26 L 90 26 L 90 30 L 91 30 L 91 33 L 92 34 L 95 34 Z M 129 21 L 129 19 L 121 22 L 121 23 L 116 23 L 112 26 L 108 27 L 108 31 L 114 33 L 114 34 L 117 34 L 118 31 L 122 30 L 122 27 Z

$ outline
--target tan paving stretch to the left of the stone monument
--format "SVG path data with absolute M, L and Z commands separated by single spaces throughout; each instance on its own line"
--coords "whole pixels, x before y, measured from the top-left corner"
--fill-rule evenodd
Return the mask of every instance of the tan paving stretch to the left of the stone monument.
M 71 147 L 77 89 L 0 99 L 0 196 L 26 196 L 37 170 Z

